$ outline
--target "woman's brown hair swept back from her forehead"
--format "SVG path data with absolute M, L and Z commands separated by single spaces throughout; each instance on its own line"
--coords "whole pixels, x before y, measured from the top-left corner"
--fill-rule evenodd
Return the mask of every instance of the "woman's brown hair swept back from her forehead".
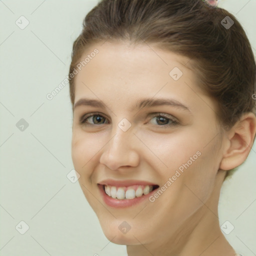
M 226 16 L 230 27 L 226 27 Z M 230 18 L 232 21 L 230 21 Z M 216 115 L 229 129 L 242 113 L 255 113 L 255 60 L 237 19 L 202 0 L 101 0 L 73 42 L 69 77 L 85 49 L 105 40 L 154 43 L 190 58 L 200 86 L 218 102 Z M 69 79 L 74 103 L 74 78 Z

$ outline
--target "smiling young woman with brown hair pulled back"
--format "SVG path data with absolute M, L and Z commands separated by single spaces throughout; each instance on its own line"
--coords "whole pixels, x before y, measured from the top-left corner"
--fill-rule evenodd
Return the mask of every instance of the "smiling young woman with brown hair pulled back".
M 69 78 L 72 160 L 106 237 L 129 256 L 235 255 L 219 192 L 256 132 L 237 19 L 202 0 L 102 0 Z

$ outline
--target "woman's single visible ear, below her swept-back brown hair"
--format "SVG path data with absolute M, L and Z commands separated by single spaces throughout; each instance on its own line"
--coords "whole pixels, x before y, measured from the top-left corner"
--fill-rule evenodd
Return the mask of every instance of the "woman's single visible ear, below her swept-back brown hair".
M 256 116 L 252 112 L 244 113 L 227 132 L 219 169 L 230 170 L 242 164 L 253 145 L 255 133 Z

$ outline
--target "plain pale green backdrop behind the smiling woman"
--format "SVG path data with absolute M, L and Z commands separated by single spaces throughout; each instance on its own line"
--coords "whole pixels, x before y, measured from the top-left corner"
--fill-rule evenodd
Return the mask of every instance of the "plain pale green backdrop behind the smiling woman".
M 126 255 L 126 246 L 104 236 L 78 181 L 67 178 L 73 169 L 68 85 L 46 98 L 68 74 L 72 42 L 96 4 L 0 0 L 0 256 Z M 255 54 L 256 0 L 218 6 L 241 22 Z M 225 236 L 243 256 L 256 255 L 255 159 L 254 144 L 219 201 L 220 225 L 233 226 Z

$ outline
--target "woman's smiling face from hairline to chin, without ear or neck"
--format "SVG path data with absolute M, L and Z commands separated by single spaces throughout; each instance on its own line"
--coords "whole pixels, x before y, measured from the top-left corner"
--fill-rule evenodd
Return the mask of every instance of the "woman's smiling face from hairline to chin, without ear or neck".
M 75 76 L 79 184 L 109 240 L 164 241 L 214 189 L 221 161 L 216 102 L 199 89 L 189 58 L 105 42 L 82 59 L 95 48 Z

